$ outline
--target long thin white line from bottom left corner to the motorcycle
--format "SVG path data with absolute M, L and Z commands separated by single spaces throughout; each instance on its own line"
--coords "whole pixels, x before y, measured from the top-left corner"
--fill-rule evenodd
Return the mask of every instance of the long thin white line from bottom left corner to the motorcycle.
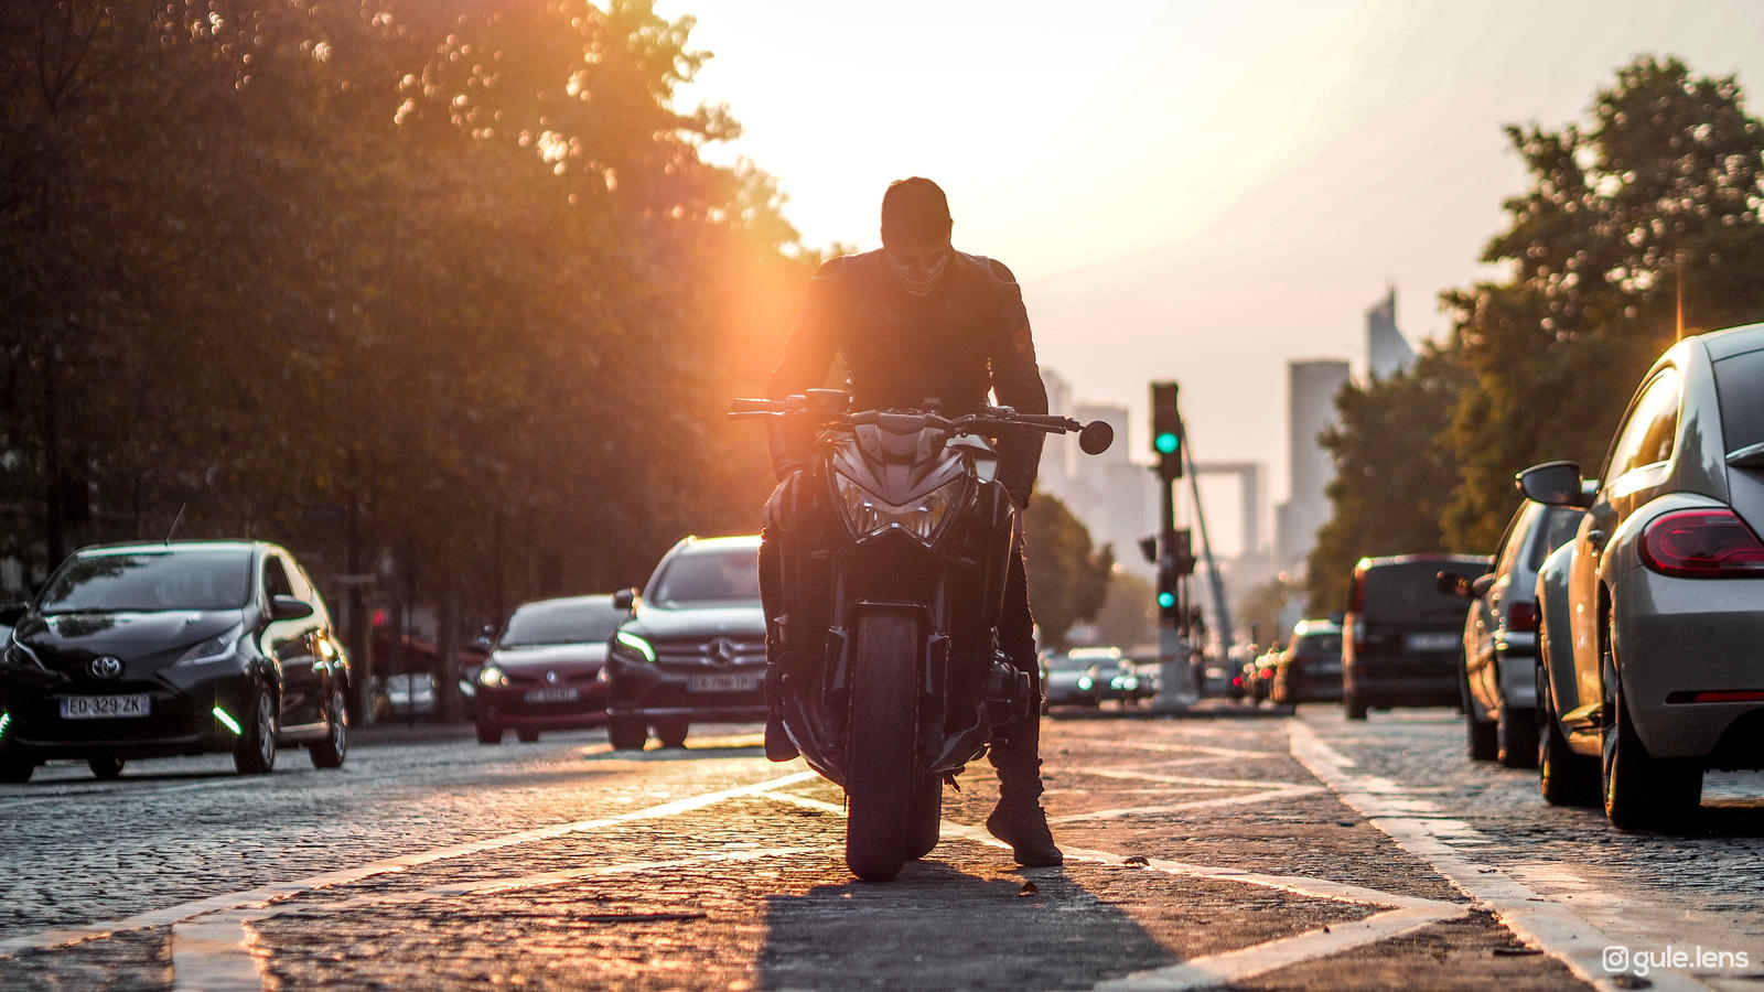
M 453 844 L 448 847 L 436 847 L 432 851 L 422 851 L 416 854 L 400 854 L 397 858 L 386 858 L 381 861 L 372 861 L 369 865 L 360 865 L 355 868 L 340 868 L 335 872 L 325 872 L 307 879 L 288 881 L 288 883 L 270 883 L 254 890 L 235 891 L 226 895 L 212 895 L 206 898 L 198 898 L 192 902 L 183 902 L 176 906 L 168 906 L 164 909 L 150 909 L 146 913 L 136 913 L 134 916 L 125 916 L 120 920 L 104 920 L 99 923 L 86 923 L 81 927 L 56 927 L 51 930 L 41 930 L 37 934 L 25 934 L 19 937 L 9 937 L 0 941 L 0 958 L 16 957 L 19 953 L 46 951 L 67 944 L 78 944 L 83 941 L 92 941 L 99 937 L 109 937 L 123 930 L 141 930 L 146 927 L 169 927 L 173 923 L 182 923 L 194 916 L 203 916 L 206 913 L 217 913 L 226 909 L 236 909 L 249 904 L 268 904 L 289 895 L 298 895 L 310 890 L 332 888 L 339 884 L 348 884 L 370 876 L 383 876 L 390 872 L 402 872 L 418 865 L 427 865 L 430 861 L 443 861 L 448 858 L 464 858 L 469 854 L 480 854 L 483 851 L 496 851 L 501 847 L 513 847 L 517 844 L 533 844 L 536 840 L 552 840 L 556 837 L 564 837 L 570 833 L 586 833 L 591 830 L 600 830 L 607 826 L 617 826 L 623 823 L 640 821 L 640 819 L 658 819 L 669 815 L 679 815 L 683 812 L 691 812 L 707 805 L 721 803 L 725 800 L 736 800 L 743 796 L 760 794 L 771 789 L 781 789 L 815 778 L 813 771 L 797 771 L 792 775 L 783 775 L 780 778 L 767 778 L 766 782 L 755 782 L 753 785 L 737 785 L 734 789 L 723 789 L 718 793 L 704 793 L 699 796 L 686 796 L 683 800 L 674 800 L 656 807 L 632 810 L 624 814 L 614 814 L 598 819 L 586 819 L 579 823 L 564 823 L 557 826 L 543 826 L 534 830 L 522 830 L 519 833 L 508 833 L 503 837 L 490 837 L 487 840 L 475 840 L 469 844 Z

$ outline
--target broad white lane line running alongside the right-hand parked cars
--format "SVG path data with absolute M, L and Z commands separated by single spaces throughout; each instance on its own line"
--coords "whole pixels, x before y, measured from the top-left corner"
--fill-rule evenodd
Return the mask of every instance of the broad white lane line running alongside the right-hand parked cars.
M 1330 747 L 1304 720 L 1289 722 L 1289 740 L 1293 757 L 1342 803 L 1385 831 L 1397 847 L 1429 863 L 1446 881 L 1492 911 L 1521 941 L 1568 966 L 1575 978 L 1598 988 L 1618 988 L 1614 976 L 1603 969 L 1602 955 L 1607 946 L 1619 941 L 1581 920 L 1568 907 L 1514 881 L 1506 872 L 1471 861 L 1454 847 L 1454 844 L 1487 844 L 1487 837 L 1462 821 L 1434 819 L 1443 815 L 1443 810 L 1425 800 L 1409 798 L 1402 785 L 1390 778 L 1348 771 L 1355 766 L 1353 761 Z M 1676 971 L 1653 971 L 1648 980 L 1662 992 L 1709 988 Z

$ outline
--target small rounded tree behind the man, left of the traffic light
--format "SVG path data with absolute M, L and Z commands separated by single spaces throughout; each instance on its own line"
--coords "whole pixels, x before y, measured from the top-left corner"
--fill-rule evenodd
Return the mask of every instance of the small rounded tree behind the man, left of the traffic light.
M 1092 620 L 1108 595 L 1115 551 L 1094 549 L 1090 531 L 1046 492 L 1035 492 L 1023 514 L 1028 602 L 1046 646 L 1065 646 L 1065 632 Z

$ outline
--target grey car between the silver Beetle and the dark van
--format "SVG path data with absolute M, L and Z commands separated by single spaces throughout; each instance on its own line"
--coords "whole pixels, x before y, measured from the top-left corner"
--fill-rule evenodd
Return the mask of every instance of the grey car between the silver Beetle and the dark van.
M 1536 768 L 1536 575 L 1573 537 L 1581 510 L 1526 500 L 1506 524 L 1494 572 L 1441 572 L 1439 590 L 1469 600 L 1459 671 L 1469 757 Z

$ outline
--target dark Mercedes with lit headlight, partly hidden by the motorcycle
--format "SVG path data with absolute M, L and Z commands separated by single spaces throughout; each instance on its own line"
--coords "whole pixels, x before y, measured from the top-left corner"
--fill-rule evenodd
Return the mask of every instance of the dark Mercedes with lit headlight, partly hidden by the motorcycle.
M 766 614 L 759 535 L 688 537 L 642 593 L 610 602 L 632 616 L 607 646 L 607 738 L 642 748 L 649 729 L 681 747 L 693 722 L 766 718 Z

